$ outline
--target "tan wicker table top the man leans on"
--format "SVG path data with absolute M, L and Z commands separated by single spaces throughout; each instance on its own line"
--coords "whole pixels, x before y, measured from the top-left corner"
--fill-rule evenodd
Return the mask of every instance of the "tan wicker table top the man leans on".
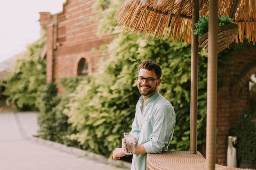
M 167 151 L 147 154 L 147 170 L 206 170 L 206 159 L 200 152 Z M 245 170 L 216 164 L 216 170 Z M 248 169 L 246 169 L 248 170 Z

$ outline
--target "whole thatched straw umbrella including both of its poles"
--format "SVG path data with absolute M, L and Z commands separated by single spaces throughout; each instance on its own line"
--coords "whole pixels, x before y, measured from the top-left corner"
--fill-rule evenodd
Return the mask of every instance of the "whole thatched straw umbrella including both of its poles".
M 229 15 L 238 24 L 236 42 L 243 42 L 245 35 L 255 44 L 256 0 L 125 0 L 117 21 L 128 27 L 128 31 L 191 43 L 190 153 L 196 154 L 198 35 L 193 32 L 198 18 L 206 15 L 209 15 L 206 158 L 207 169 L 212 170 L 216 157 L 218 15 Z

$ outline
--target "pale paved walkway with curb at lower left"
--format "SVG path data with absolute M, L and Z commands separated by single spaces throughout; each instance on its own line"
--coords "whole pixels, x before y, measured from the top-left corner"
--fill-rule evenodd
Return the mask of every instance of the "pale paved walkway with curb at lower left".
M 130 163 L 33 137 L 37 113 L 0 113 L 0 170 L 128 170 Z M 123 168 L 117 168 L 123 167 Z

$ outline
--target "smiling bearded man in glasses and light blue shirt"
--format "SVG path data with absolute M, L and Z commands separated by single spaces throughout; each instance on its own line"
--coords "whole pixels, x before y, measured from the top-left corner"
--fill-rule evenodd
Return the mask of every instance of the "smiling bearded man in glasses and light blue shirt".
M 146 170 L 146 153 L 161 153 L 168 149 L 173 138 L 176 116 L 173 106 L 158 91 L 162 69 L 154 61 L 142 62 L 139 66 L 137 87 L 141 97 L 135 109 L 132 132 L 135 137 L 135 155 L 131 170 Z M 122 148 L 115 148 L 113 159 L 125 156 Z

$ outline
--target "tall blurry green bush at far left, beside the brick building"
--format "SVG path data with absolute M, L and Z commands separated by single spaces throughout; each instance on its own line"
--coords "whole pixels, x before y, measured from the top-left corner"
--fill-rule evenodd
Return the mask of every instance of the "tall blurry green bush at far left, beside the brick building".
M 38 110 L 35 104 L 37 91 L 46 83 L 46 60 L 38 59 L 38 54 L 45 40 L 44 36 L 16 56 L 16 65 L 5 84 L 7 104 L 18 110 Z

